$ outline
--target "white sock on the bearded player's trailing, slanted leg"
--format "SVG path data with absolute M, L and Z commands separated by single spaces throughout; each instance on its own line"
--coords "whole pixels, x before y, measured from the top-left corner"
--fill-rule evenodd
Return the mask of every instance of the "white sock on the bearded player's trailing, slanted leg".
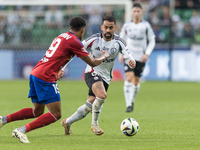
M 92 111 L 92 104 L 86 102 L 84 105 L 80 106 L 77 111 L 66 119 L 66 123 L 71 125 L 72 123 L 83 119 L 89 112 Z

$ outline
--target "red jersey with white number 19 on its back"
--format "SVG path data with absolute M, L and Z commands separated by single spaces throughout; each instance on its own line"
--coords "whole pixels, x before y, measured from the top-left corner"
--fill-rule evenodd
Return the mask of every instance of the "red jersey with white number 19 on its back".
M 45 56 L 31 71 L 31 74 L 46 82 L 56 82 L 58 72 L 74 57 L 89 55 L 81 41 L 72 33 L 66 32 L 54 39 Z

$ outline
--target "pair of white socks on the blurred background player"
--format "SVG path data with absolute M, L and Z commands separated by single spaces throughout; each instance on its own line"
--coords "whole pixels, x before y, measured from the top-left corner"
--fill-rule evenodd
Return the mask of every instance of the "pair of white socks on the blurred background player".
M 140 84 L 133 85 L 132 82 L 124 82 L 124 96 L 126 101 L 126 107 L 131 106 L 135 102 L 135 97 L 139 92 Z

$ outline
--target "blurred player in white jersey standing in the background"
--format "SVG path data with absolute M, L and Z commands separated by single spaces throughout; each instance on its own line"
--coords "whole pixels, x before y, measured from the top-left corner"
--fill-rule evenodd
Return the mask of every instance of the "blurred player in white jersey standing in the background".
M 155 34 L 151 25 L 142 19 L 142 12 L 142 6 L 139 3 L 133 4 L 132 20 L 125 23 L 120 32 L 120 37 L 126 41 L 128 49 L 136 60 L 134 69 L 131 69 L 126 62 L 124 63 L 126 112 L 133 111 L 135 97 L 140 89 L 140 77 L 155 47 Z M 119 61 L 124 62 L 122 55 L 119 55 Z

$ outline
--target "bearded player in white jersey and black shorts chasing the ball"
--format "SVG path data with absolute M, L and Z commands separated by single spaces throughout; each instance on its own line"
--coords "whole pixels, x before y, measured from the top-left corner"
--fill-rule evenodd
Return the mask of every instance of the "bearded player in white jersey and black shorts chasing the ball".
M 130 68 L 135 67 L 135 60 L 126 47 L 126 43 L 115 35 L 116 20 L 112 16 L 102 19 L 102 33 L 92 35 L 83 41 L 86 49 L 90 48 L 91 55 L 96 58 L 101 54 L 101 50 L 106 50 L 110 57 L 97 67 L 87 65 L 85 69 L 85 82 L 89 87 L 88 99 L 69 118 L 61 122 L 65 128 L 65 134 L 71 135 L 70 126 L 72 123 L 84 118 L 92 111 L 91 130 L 95 135 L 101 135 L 104 131 L 99 127 L 98 118 L 107 97 L 107 89 L 112 79 L 114 61 L 119 52 L 123 54 Z

